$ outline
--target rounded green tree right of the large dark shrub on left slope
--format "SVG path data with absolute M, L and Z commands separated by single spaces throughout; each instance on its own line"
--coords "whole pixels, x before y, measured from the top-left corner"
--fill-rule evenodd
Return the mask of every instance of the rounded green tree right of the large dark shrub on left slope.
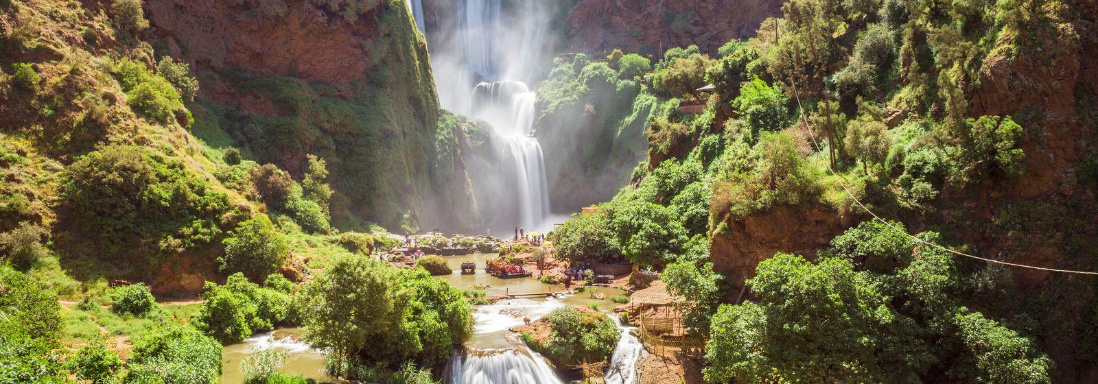
M 253 279 L 266 276 L 285 262 L 290 246 L 274 229 L 270 218 L 255 214 L 234 228 L 224 240 L 225 255 L 217 257 L 220 269 L 244 272 Z

